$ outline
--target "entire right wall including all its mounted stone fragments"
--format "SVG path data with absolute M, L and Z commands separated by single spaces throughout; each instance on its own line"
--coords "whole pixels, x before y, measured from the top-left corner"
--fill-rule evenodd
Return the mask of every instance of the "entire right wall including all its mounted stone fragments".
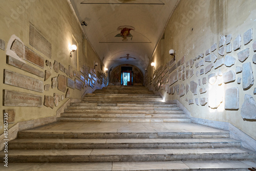
M 177 99 L 191 117 L 231 123 L 256 140 L 255 5 L 181 0 L 152 57 L 156 70 L 147 68 L 146 85 L 165 100 Z

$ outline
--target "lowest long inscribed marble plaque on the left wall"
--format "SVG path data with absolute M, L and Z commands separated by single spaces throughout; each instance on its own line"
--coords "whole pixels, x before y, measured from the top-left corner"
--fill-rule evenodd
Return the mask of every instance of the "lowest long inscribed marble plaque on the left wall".
M 41 107 L 42 100 L 42 96 L 39 95 L 4 90 L 3 105 Z

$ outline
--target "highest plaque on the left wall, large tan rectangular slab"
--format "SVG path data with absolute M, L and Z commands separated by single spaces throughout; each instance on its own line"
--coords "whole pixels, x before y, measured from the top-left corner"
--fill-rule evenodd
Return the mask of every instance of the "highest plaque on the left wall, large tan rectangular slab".
M 29 26 L 29 45 L 50 59 L 52 58 L 51 43 L 31 24 Z

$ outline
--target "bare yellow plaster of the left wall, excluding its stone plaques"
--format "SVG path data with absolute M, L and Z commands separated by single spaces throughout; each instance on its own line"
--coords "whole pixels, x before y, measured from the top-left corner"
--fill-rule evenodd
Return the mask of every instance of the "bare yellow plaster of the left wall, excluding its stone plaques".
M 45 38 L 51 42 L 52 47 L 52 58 L 48 58 L 44 54 L 37 51 L 35 48 L 29 45 L 29 26 L 32 24 L 36 27 Z M 76 22 L 73 12 L 67 1 L 63 0 L 27 0 L 27 1 L 1 1 L 0 2 L 0 38 L 6 42 L 5 51 L 0 50 L 0 97 L 3 97 L 3 90 L 13 90 L 18 92 L 31 93 L 36 95 L 53 96 L 54 93 L 59 95 L 65 94 L 57 88 L 50 89 L 50 91 L 44 91 L 43 93 L 38 93 L 22 88 L 17 88 L 14 86 L 9 86 L 3 83 L 3 71 L 8 69 L 13 72 L 17 72 L 35 79 L 44 81 L 44 78 L 40 78 L 18 68 L 12 67 L 6 63 L 6 53 L 8 46 L 10 46 L 13 41 L 13 37 L 19 38 L 25 46 L 41 55 L 45 60 L 49 60 L 54 63 L 54 60 L 60 62 L 65 68 L 69 69 L 69 65 L 73 67 L 73 70 L 80 71 L 80 68 L 84 65 L 86 67 L 93 68 L 94 62 L 98 62 L 99 65 L 96 67 L 96 71 L 100 70 L 100 60 L 95 52 L 92 50 L 90 44 L 83 37 L 83 33 Z M 76 58 L 71 58 L 69 56 L 69 44 L 72 44 L 72 38 L 78 43 L 78 61 L 73 61 Z M 10 48 L 10 47 L 9 47 Z M 17 57 L 17 56 L 16 56 Z M 55 73 L 53 69 L 45 65 L 44 69 L 40 69 L 33 64 L 25 61 L 28 65 L 45 72 L 48 70 L 51 72 L 51 77 L 44 82 L 44 84 L 51 84 L 51 78 L 57 77 L 58 74 L 66 75 L 65 73 L 59 71 Z M 75 66 L 74 63 L 78 63 Z M 74 78 L 73 78 L 74 80 Z M 98 85 L 96 81 L 97 87 Z M 69 88 L 70 89 L 70 88 Z M 88 90 L 92 91 L 91 88 L 83 89 L 79 91 L 77 89 L 70 89 L 70 98 L 80 99 L 82 94 Z M 20 107 L 20 106 L 3 106 L 0 104 L 1 112 L 3 110 L 16 110 L 15 122 L 9 124 L 9 128 L 20 121 L 34 120 L 38 118 L 45 118 L 56 116 L 56 111 L 60 106 L 65 103 L 68 98 L 59 102 L 58 106 L 54 106 L 54 109 L 42 107 Z M 0 134 L 3 133 L 3 117 L 0 117 Z

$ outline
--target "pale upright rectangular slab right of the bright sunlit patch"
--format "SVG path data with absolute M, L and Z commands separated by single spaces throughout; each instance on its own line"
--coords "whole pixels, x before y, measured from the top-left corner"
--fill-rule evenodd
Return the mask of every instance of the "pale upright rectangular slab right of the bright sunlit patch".
M 239 109 L 239 88 L 227 89 L 225 92 L 225 110 Z

